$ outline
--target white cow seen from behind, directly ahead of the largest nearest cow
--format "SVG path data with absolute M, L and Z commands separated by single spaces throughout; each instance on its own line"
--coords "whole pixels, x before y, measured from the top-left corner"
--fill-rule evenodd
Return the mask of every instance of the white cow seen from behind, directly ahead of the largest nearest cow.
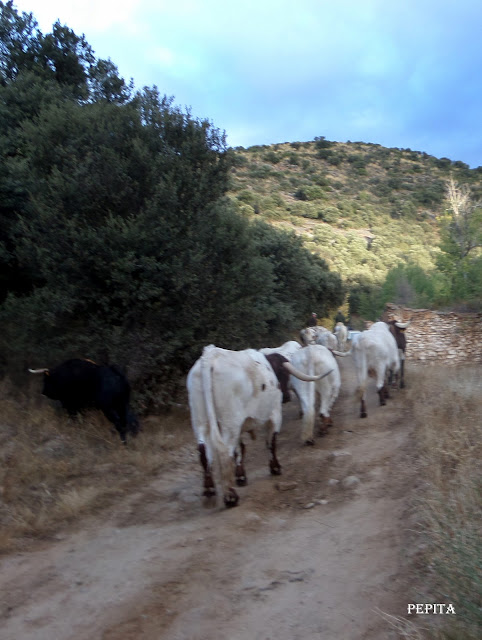
M 319 396 L 319 410 L 321 417 L 320 435 L 326 433 L 333 422 L 331 408 L 340 390 L 340 370 L 329 349 L 323 345 L 313 344 L 297 351 L 291 364 L 307 375 L 318 375 L 329 371 L 330 374 L 316 382 L 300 382 L 291 376 L 291 387 L 300 401 L 302 414 L 301 440 L 304 444 L 314 444 L 313 431 L 316 418 L 316 394 Z

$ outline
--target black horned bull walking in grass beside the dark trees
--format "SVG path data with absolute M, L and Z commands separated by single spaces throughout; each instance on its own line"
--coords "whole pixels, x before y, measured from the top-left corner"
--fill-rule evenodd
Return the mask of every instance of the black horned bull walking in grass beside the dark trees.
M 115 365 L 101 366 L 91 360 L 67 360 L 54 369 L 29 369 L 42 373 L 42 393 L 58 400 L 69 415 L 74 416 L 87 408 L 100 409 L 126 443 L 129 431 L 133 436 L 139 423 L 130 409 L 130 385 Z

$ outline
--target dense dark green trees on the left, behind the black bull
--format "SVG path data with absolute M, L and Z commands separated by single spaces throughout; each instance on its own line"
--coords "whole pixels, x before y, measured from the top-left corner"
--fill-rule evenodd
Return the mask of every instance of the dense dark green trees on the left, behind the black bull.
M 159 405 L 205 344 L 274 346 L 340 304 L 322 259 L 225 197 L 212 123 L 134 91 L 67 27 L 0 12 L 4 371 L 117 362 Z

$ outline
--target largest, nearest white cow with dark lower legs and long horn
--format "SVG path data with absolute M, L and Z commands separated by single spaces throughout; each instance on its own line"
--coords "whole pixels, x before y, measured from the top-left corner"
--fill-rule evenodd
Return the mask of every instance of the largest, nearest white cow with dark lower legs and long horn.
M 281 428 L 281 402 L 289 400 L 289 374 L 313 381 L 278 353 L 263 355 L 254 349 L 229 351 L 214 345 L 204 348 L 187 376 L 191 423 L 204 472 L 204 495 L 216 494 L 214 477 L 222 486 L 224 504 L 234 507 L 239 486 L 246 484 L 243 432 L 266 425 L 271 451 L 270 471 L 281 473 L 276 458 L 276 437 Z

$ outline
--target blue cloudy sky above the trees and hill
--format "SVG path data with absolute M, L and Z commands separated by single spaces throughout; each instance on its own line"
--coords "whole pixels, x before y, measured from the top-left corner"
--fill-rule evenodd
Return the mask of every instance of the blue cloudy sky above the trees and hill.
M 482 165 L 481 0 L 15 0 L 230 146 L 373 142 Z

